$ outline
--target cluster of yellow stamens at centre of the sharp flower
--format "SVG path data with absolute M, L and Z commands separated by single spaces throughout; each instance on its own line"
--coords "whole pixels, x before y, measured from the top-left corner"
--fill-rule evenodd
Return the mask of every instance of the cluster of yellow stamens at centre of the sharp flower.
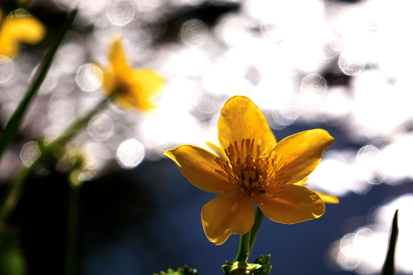
M 278 155 L 275 151 L 271 151 L 272 143 L 265 146 L 261 155 L 261 140 L 259 140 L 254 158 L 252 156 L 254 141 L 255 139 L 252 139 L 252 141 L 242 139 L 240 148 L 238 148 L 237 141 L 234 141 L 234 145 L 230 143 L 228 149 L 225 149 L 228 160 L 215 157 L 215 162 L 221 166 L 222 170 L 214 169 L 214 171 L 228 179 L 228 181 L 221 181 L 219 184 L 232 184 L 235 187 L 235 189 L 228 189 L 225 192 L 239 189 L 242 193 L 249 193 L 257 204 L 262 204 L 257 195 L 268 198 L 277 197 L 277 195 L 268 195 L 268 191 L 271 190 L 271 193 L 273 193 L 274 188 L 284 189 L 285 186 L 283 185 L 291 177 L 283 181 L 277 181 L 278 177 L 285 174 L 285 172 L 280 171 L 287 163 L 285 156 L 282 153 Z M 276 190 L 275 193 L 282 193 L 282 190 Z

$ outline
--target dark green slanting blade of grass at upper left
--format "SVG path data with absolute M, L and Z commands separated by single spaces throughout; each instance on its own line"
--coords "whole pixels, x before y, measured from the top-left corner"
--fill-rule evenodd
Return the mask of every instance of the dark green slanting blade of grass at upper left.
M 36 77 L 31 83 L 26 93 L 26 96 L 24 97 L 24 99 L 20 101 L 19 106 L 14 111 L 9 122 L 7 122 L 6 127 L 3 129 L 2 135 L 0 137 L 0 158 L 7 149 L 7 146 L 9 146 L 9 144 L 14 140 L 15 136 L 17 135 L 17 132 L 19 131 L 19 128 L 21 126 L 21 122 L 23 121 L 24 115 L 26 114 L 26 111 L 31 101 L 40 89 L 43 80 L 45 80 L 47 72 L 49 71 L 50 66 L 52 65 L 52 61 L 56 55 L 57 49 L 59 48 L 60 44 L 62 44 L 62 41 L 67 31 L 69 31 L 69 29 L 71 28 L 77 13 L 78 9 L 73 9 L 67 17 L 66 22 L 64 23 L 55 44 L 52 46 L 49 52 L 47 52 L 46 56 L 43 58 L 42 63 L 40 63 L 39 68 L 36 71 Z

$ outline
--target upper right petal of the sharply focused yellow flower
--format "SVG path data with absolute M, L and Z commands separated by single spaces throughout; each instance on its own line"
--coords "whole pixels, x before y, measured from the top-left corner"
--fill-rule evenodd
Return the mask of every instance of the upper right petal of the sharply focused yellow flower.
M 286 174 L 277 177 L 276 181 L 283 181 L 289 177 L 288 183 L 296 183 L 306 178 L 316 169 L 321 161 L 323 152 L 334 139 L 323 129 L 308 130 L 288 136 L 278 142 L 273 151 L 282 153 L 287 160 L 286 165 L 279 170 Z

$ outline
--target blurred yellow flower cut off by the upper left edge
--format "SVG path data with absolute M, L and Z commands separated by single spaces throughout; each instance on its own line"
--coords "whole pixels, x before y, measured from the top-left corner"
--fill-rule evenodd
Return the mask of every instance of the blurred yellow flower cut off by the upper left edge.
M 13 58 L 19 53 L 19 43 L 36 44 L 45 37 L 45 27 L 31 15 L 2 16 L 0 12 L 0 55 Z

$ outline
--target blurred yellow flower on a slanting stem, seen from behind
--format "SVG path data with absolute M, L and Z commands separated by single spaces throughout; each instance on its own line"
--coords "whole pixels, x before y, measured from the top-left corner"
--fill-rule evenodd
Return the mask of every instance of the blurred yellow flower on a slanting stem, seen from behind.
M 129 67 L 120 40 L 112 43 L 109 52 L 110 68 L 103 72 L 103 85 L 107 95 L 117 93 L 116 101 L 123 107 L 151 110 L 155 107 L 152 97 L 164 84 L 153 70 Z

